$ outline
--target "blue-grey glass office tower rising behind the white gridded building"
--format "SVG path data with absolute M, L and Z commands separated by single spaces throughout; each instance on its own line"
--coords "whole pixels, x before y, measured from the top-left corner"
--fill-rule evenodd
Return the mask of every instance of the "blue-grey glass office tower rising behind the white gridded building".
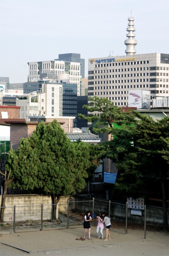
M 63 60 L 63 61 L 70 61 L 70 62 L 80 62 L 80 75 L 84 78 L 84 71 L 85 71 L 85 59 L 80 58 L 79 53 L 64 53 L 59 54 L 59 58 L 55 60 Z

